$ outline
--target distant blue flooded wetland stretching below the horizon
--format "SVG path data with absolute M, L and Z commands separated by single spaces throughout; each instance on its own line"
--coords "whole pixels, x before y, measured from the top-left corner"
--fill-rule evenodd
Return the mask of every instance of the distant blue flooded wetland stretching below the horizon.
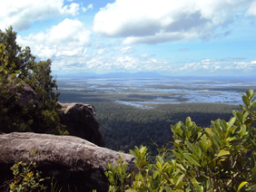
M 256 78 L 58 78 L 60 101 L 113 101 L 142 108 L 173 103 L 241 104 Z M 72 97 L 74 94 L 74 97 Z

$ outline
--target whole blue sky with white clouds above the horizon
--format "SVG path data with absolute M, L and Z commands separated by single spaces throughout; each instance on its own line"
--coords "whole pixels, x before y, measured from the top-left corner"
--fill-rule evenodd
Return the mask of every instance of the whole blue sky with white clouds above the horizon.
M 10 25 L 55 75 L 256 74 L 256 0 L 8 0 Z

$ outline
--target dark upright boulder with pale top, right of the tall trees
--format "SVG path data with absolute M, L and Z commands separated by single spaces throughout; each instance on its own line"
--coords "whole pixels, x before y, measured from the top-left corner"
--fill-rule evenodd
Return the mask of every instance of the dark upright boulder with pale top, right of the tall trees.
M 89 140 L 104 147 L 100 124 L 95 119 L 94 106 L 82 103 L 60 103 L 61 123 L 66 126 L 70 135 Z

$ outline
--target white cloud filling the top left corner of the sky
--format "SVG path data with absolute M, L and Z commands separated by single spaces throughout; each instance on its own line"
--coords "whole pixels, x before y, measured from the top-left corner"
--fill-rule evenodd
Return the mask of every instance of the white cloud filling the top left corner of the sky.
M 44 20 L 58 15 L 79 14 L 80 5 L 64 5 L 64 0 L 8 0 L 1 2 L 0 29 L 12 25 L 15 30 L 29 28 L 37 20 Z

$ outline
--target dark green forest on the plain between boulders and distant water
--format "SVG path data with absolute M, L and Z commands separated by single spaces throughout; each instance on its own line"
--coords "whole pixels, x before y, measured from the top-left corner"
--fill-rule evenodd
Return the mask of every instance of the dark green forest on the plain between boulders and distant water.
M 239 106 L 220 103 L 186 103 L 154 105 L 142 109 L 113 101 L 98 101 L 79 94 L 79 91 L 61 91 L 60 101 L 84 102 L 94 105 L 106 147 L 129 152 L 134 146 L 145 145 L 155 155 L 158 146 L 172 140 L 171 124 L 192 117 L 200 126 L 209 126 L 211 120 L 229 120 L 231 111 Z

